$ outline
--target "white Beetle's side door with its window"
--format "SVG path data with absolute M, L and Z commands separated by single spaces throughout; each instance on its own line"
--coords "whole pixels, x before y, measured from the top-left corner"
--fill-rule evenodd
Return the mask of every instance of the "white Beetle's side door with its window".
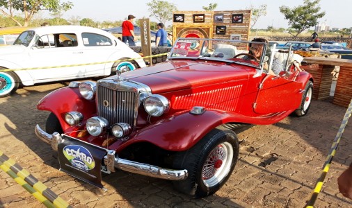
M 38 38 L 35 46 L 31 48 L 26 66 L 49 68 L 29 70 L 35 83 L 86 77 L 83 66 L 61 67 L 83 63 L 82 49 L 74 45 L 74 38 L 70 38 L 75 36 L 74 34 L 47 34 Z

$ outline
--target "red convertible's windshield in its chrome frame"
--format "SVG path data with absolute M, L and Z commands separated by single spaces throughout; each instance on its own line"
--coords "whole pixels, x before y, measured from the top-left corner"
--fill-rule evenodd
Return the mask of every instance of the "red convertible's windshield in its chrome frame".
M 264 61 L 269 60 L 269 54 L 266 54 L 264 42 L 179 38 L 168 58 L 237 62 L 259 69 Z

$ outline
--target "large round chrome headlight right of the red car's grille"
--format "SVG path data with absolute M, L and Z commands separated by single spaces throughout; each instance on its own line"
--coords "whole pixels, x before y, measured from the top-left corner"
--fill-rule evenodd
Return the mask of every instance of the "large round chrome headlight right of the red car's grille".
M 145 111 L 151 116 L 161 116 L 163 113 L 168 112 L 170 108 L 168 99 L 159 94 L 147 96 L 143 104 Z

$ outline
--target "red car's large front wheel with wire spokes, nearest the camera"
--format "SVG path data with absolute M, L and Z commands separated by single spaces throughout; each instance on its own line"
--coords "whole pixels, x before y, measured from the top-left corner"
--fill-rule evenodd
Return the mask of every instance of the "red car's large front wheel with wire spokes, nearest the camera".
M 186 169 L 186 180 L 175 189 L 195 197 L 209 196 L 230 177 L 239 157 L 239 141 L 230 130 L 214 129 L 191 149 L 176 153 L 173 168 Z

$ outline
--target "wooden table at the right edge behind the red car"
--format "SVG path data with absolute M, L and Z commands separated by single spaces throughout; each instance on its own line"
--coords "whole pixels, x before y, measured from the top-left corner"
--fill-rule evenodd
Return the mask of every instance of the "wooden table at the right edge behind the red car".
M 303 69 L 312 73 L 314 78 L 313 98 L 318 100 L 328 98 L 333 78 L 331 71 L 335 66 L 340 67 L 333 103 L 348 107 L 352 99 L 352 60 L 324 57 L 306 57 L 304 60 L 308 64 L 312 64 L 309 67 L 303 67 Z

